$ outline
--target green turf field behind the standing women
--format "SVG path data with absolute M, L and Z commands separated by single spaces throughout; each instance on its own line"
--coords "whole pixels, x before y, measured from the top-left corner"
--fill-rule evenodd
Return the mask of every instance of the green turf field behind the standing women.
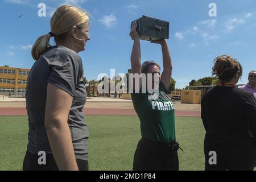
M 90 170 L 131 170 L 140 137 L 137 116 L 86 115 Z M 0 117 L 0 170 L 20 170 L 26 152 L 27 116 Z M 177 117 L 180 170 L 204 170 L 200 118 Z

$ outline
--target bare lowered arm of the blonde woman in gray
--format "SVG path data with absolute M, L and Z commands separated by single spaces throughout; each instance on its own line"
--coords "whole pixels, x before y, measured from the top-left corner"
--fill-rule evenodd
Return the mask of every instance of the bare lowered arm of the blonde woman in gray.
M 59 87 L 48 84 L 45 123 L 47 137 L 59 170 L 78 170 L 68 113 L 73 98 Z

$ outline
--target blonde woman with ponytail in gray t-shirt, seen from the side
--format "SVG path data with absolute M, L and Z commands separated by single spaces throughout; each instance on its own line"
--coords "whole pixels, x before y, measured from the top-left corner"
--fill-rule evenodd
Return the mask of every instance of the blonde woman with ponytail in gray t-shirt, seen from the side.
M 23 170 L 88 170 L 88 129 L 80 56 L 89 38 L 89 17 L 77 7 L 60 6 L 51 32 L 32 47 L 28 75 L 28 145 Z M 56 46 L 49 44 L 54 37 Z M 46 155 L 44 155 L 46 154 Z

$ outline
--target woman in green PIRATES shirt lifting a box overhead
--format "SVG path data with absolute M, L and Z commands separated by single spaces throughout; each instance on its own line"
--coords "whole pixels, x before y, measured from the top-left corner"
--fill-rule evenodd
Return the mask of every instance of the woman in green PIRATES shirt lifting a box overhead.
M 156 74 L 159 79 L 159 97 L 150 100 L 153 96 L 148 92 L 142 93 L 142 84 L 139 84 L 140 93 L 132 93 L 131 99 L 141 122 L 142 139 L 139 140 L 134 154 L 133 170 L 179 170 L 177 150 L 179 144 L 175 141 L 174 105 L 167 96 L 172 75 L 171 55 L 166 40 L 157 42 L 162 47 L 163 72 L 160 74 L 160 65 L 155 61 L 146 61 L 141 64 L 141 46 L 139 34 L 134 23 L 130 36 L 134 40 L 131 52 L 131 73 Z M 152 76 L 154 78 L 154 76 Z M 135 80 L 135 79 L 134 79 Z M 154 86 L 154 79 L 152 79 Z

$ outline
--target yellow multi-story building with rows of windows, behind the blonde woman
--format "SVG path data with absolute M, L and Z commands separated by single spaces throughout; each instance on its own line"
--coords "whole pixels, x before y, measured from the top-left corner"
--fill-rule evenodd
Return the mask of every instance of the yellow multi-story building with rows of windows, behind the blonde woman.
M 30 69 L 0 67 L 0 95 L 25 96 Z

